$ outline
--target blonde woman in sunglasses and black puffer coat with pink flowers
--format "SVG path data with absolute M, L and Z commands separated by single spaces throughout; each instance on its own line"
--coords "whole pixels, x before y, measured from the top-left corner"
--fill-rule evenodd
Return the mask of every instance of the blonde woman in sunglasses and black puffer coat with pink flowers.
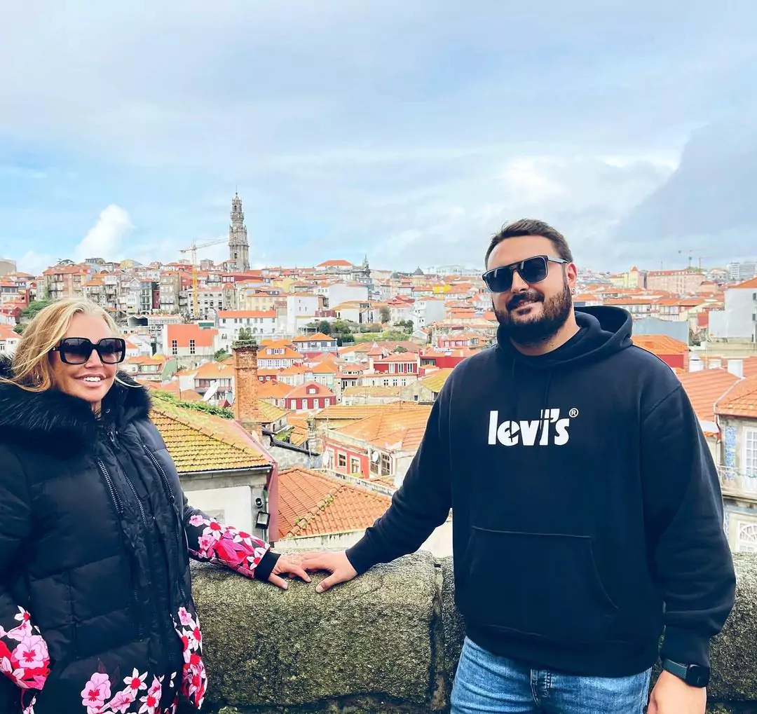
M 59 300 L 0 362 L 2 712 L 165 714 L 179 691 L 199 708 L 189 556 L 310 581 L 187 504 L 117 334 L 94 303 Z

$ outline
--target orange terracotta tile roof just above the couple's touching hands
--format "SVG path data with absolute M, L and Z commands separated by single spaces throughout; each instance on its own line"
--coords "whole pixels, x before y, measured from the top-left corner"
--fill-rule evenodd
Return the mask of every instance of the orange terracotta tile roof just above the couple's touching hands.
M 304 467 L 279 473 L 279 539 L 323 536 L 371 526 L 391 498 Z

